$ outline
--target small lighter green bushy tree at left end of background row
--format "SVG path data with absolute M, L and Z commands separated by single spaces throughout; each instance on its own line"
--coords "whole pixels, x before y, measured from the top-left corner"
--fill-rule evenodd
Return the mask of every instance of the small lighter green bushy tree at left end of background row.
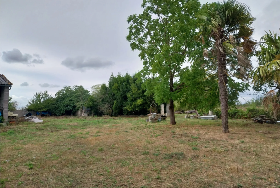
M 35 112 L 49 111 L 52 109 L 54 101 L 48 90 L 36 92 L 33 98 L 28 101 L 27 110 Z

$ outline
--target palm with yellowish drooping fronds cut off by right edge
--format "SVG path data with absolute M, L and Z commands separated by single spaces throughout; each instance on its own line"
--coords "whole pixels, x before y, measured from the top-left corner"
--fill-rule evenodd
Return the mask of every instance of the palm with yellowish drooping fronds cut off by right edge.
M 252 82 L 256 88 L 272 89 L 265 94 L 263 106 L 266 110 L 271 106 L 273 118 L 277 120 L 280 116 L 280 36 L 276 32 L 266 33 L 260 40 L 260 50 L 256 52 L 259 64 L 252 73 Z

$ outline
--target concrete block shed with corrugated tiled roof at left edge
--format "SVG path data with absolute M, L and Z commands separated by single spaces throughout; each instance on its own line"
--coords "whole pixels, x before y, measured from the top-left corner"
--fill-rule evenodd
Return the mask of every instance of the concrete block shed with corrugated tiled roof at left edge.
M 0 74 L 0 112 L 3 114 L 4 123 L 8 121 L 9 90 L 12 85 L 6 76 Z

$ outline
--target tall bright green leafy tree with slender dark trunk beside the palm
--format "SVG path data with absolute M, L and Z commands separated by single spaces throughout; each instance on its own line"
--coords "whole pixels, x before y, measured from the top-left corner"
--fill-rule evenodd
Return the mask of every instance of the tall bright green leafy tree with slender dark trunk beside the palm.
M 178 74 L 188 52 L 195 47 L 197 0 L 143 0 L 144 11 L 130 15 L 127 41 L 140 51 L 143 69 L 139 75 L 147 94 L 153 92 L 157 103 L 169 102 L 170 124 L 175 125 L 174 100 L 185 87 Z

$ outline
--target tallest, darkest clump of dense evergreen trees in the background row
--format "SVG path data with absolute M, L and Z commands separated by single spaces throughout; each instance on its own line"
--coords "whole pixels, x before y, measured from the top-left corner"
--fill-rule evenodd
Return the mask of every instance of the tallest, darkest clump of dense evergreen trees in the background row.
M 92 86 L 87 106 L 95 115 L 144 115 L 150 108 L 152 95 L 145 95 L 141 80 L 135 75 L 111 75 L 109 84 Z

